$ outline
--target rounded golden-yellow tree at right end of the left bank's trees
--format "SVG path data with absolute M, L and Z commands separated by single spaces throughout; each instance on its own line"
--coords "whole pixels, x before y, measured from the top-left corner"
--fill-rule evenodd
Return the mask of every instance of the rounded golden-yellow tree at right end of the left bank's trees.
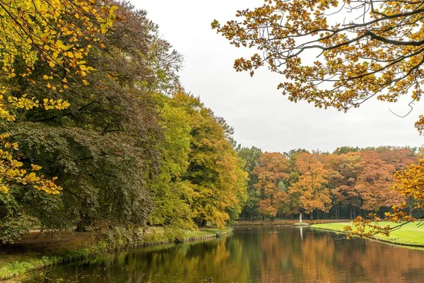
M 211 221 L 222 228 L 240 214 L 247 198 L 244 161 L 228 139 L 230 127 L 199 98 L 177 92 L 173 103 L 191 119 L 189 166 L 182 180 L 192 191 L 189 201 L 194 221 L 198 225 Z

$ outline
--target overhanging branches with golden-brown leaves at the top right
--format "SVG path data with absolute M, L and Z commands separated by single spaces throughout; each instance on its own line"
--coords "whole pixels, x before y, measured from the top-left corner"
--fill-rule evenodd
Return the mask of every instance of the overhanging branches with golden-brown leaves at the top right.
M 259 50 L 248 59 L 236 59 L 237 71 L 253 75 L 268 65 L 285 78 L 278 88 L 290 100 L 346 111 L 372 96 L 388 102 L 404 95 L 420 100 L 422 5 L 423 1 L 266 0 L 258 8 L 237 11 L 240 21 L 221 25 L 215 20 L 212 28 L 236 47 Z M 424 117 L 416 127 L 423 131 Z

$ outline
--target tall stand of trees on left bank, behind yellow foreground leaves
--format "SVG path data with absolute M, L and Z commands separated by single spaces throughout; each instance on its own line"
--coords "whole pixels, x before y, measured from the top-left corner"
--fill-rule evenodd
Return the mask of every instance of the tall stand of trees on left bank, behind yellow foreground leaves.
M 231 127 L 179 85 L 182 56 L 158 36 L 146 11 L 114 5 L 120 21 L 107 32 L 100 25 L 99 41 L 88 40 L 95 31 L 83 28 L 82 16 L 65 15 L 67 25 L 60 18 L 54 22 L 62 30 L 70 21 L 88 30 L 78 38 L 60 37 L 66 50 L 90 48 L 78 55 L 84 61 L 76 59 L 78 48 L 57 52 L 71 58 L 69 66 L 78 64 L 82 79 L 58 75 L 47 59 L 35 61 L 25 75 L 0 72 L 4 89 L 11 90 L 4 91 L 6 102 L 14 97 L 45 102 L 25 109 L 16 100 L 10 108 L 15 120 L 0 121 L 1 132 L 10 134 L 3 149 L 16 142 L 18 166 L 41 166 L 42 178 L 57 178 L 61 187 L 59 194 L 47 194 L 55 191 L 16 179 L 20 182 L 0 192 L 1 241 L 12 242 L 34 226 L 90 229 L 130 242 L 143 228 L 160 225 L 177 236 L 206 221 L 222 227 L 242 210 L 247 173 Z M 40 48 L 59 49 L 57 42 Z M 27 63 L 16 54 L 16 73 Z M 63 107 L 54 107 L 57 103 Z

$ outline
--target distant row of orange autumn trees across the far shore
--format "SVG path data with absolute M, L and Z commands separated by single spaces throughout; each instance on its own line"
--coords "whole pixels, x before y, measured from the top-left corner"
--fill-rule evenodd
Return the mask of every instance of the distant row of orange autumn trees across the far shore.
M 421 149 L 392 146 L 343 146 L 332 154 L 304 149 L 262 153 L 254 146 L 237 151 L 249 173 L 240 219 L 249 220 L 293 219 L 300 213 L 310 219 L 353 219 L 370 212 L 384 217 L 394 204 L 409 202 L 391 189 L 394 173 L 422 157 Z

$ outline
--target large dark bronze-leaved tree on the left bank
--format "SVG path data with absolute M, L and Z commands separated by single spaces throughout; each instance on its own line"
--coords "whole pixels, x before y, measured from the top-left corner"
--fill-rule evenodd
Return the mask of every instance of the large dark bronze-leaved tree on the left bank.
M 126 21 L 115 23 L 109 33 L 98 33 L 101 41 L 92 42 L 84 35 L 78 39 L 81 46 L 91 45 L 83 59 L 95 71 L 66 76 L 66 84 L 57 91 L 45 87 L 52 68 L 40 60 L 32 74 L 7 80 L 18 94 L 28 93 L 40 101 L 43 96 L 61 97 L 70 105 L 61 111 L 16 111 L 15 122 L 2 124 L 11 132 L 11 144 L 19 141 L 21 161 L 28 166 L 38 163 L 43 174 L 58 176 L 63 190 L 56 197 L 42 197 L 13 186 L 1 225 L 26 217 L 43 229 L 76 225 L 83 231 L 91 226 L 98 236 L 119 231 L 130 241 L 146 226 L 153 207 L 148 183 L 158 174 L 163 144 L 159 105 L 149 91 L 156 79 L 153 69 L 160 71 L 156 64 L 163 57 L 155 58 L 154 64 L 146 62 L 146 54 L 155 50 L 151 40 L 155 26 L 144 11 L 119 4 L 119 15 Z M 74 23 L 83 26 L 78 20 Z M 72 44 L 67 37 L 61 42 Z M 64 82 L 52 76 L 49 83 Z

